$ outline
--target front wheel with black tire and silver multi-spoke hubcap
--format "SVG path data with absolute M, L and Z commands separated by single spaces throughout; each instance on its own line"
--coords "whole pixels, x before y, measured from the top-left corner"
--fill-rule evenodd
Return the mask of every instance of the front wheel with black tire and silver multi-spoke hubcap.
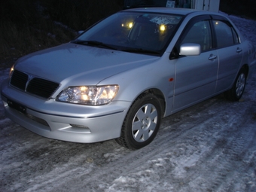
M 157 135 L 160 120 L 161 107 L 157 97 L 151 93 L 139 96 L 126 114 L 117 143 L 130 149 L 145 147 Z

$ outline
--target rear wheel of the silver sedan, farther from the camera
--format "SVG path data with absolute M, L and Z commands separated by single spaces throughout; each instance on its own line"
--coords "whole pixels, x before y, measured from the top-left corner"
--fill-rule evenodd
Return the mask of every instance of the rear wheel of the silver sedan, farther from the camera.
M 246 84 L 246 71 L 245 69 L 241 69 L 236 76 L 236 81 L 233 84 L 233 87 L 227 92 L 224 93 L 225 97 L 230 101 L 238 101 L 242 97 L 242 93 L 245 90 Z

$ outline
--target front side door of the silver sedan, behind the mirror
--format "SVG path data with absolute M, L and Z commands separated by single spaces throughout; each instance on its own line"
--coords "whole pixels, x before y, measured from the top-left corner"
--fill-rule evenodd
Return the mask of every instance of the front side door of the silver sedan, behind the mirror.
M 213 49 L 211 17 L 206 15 L 191 20 L 175 48 L 187 43 L 200 44 L 202 53 L 199 56 L 179 56 L 174 60 L 176 75 L 173 112 L 215 93 L 218 53 Z

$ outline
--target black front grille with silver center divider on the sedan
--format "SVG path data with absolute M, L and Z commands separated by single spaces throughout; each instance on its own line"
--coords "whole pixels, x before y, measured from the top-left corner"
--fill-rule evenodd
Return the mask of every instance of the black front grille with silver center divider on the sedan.
M 41 96 L 45 99 L 50 98 L 59 87 L 59 84 L 55 82 L 47 81 L 42 78 L 35 78 L 32 75 L 30 76 L 17 70 L 15 70 L 11 76 L 10 84 L 20 90 L 32 93 L 36 96 Z

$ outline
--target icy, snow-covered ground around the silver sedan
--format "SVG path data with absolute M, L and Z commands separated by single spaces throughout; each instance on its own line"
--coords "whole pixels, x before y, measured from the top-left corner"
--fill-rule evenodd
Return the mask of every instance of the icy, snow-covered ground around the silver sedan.
M 256 22 L 229 17 L 256 45 Z M 256 74 L 239 102 L 215 96 L 166 117 L 138 151 L 46 139 L 0 105 L 0 191 L 256 191 L 255 85 Z

